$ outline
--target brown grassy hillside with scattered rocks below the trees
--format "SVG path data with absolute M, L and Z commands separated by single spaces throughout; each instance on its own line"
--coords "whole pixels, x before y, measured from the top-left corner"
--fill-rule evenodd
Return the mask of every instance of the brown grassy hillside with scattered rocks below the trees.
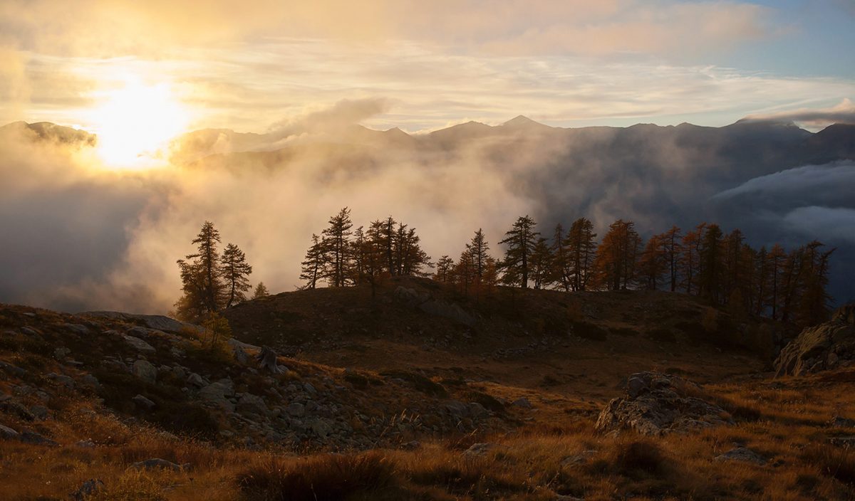
M 855 312 L 732 313 L 407 278 L 246 302 L 210 348 L 3 305 L 0 498 L 855 498 Z

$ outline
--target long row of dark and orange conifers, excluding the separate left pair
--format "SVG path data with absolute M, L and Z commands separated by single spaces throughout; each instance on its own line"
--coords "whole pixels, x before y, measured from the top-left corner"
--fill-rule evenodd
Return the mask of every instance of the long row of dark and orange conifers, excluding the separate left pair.
M 478 229 L 457 260 L 443 255 L 432 263 L 415 228 L 388 217 L 354 230 L 345 207 L 329 218 L 320 236 L 312 236 L 300 278 L 302 288 L 369 283 L 374 291 L 383 277 L 427 277 L 425 270 L 432 267 L 434 280 L 476 298 L 498 284 L 563 291 L 661 289 L 797 325 L 828 316 L 828 259 L 834 249 L 821 242 L 789 252 L 778 244 L 756 249 L 740 230 L 725 234 L 710 223 L 685 232 L 672 226 L 645 242 L 635 224 L 623 219 L 610 224 L 599 242 L 596 238 L 587 218 L 576 219 L 566 232 L 558 224 L 547 238 L 526 215 L 498 242 L 501 259 L 490 255 L 490 244 Z M 200 244 L 198 295 L 205 305 L 213 297 L 206 282 L 208 252 Z

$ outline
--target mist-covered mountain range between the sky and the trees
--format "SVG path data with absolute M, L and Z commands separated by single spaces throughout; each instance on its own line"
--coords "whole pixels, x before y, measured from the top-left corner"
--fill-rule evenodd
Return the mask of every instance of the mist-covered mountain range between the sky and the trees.
M 311 234 L 345 206 L 355 225 L 392 215 L 416 227 L 433 259 L 457 257 L 479 228 L 499 256 L 495 242 L 528 213 L 546 236 L 586 216 L 600 235 L 629 218 L 646 236 L 714 220 L 756 246 L 819 238 L 840 247 L 832 275 L 852 272 L 855 164 L 830 163 L 848 153 L 817 156 L 819 134 L 756 123 L 563 130 L 515 119 L 410 137 L 355 125 L 359 109 L 382 106 L 354 105 L 268 134 L 192 133 L 174 144 L 172 163 L 142 171 L 105 168 L 85 138 L 3 128 L 0 300 L 168 312 L 180 294 L 175 260 L 192 252 L 205 220 L 224 246 L 245 250 L 253 284 L 292 290 Z M 855 296 L 844 282 L 832 285 L 838 300 Z

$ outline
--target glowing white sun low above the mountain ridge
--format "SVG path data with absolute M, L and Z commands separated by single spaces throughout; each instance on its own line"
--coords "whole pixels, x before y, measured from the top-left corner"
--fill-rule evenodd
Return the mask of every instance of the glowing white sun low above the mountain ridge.
M 110 167 L 150 166 L 170 139 L 186 131 L 189 114 L 169 84 L 128 80 L 102 99 L 91 121 L 98 154 Z

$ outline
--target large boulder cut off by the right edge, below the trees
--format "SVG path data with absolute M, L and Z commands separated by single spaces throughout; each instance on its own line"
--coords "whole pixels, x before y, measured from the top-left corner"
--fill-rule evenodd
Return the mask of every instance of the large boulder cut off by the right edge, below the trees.
M 840 307 L 826 323 L 809 327 L 775 359 L 777 376 L 803 376 L 855 361 L 855 304 Z

